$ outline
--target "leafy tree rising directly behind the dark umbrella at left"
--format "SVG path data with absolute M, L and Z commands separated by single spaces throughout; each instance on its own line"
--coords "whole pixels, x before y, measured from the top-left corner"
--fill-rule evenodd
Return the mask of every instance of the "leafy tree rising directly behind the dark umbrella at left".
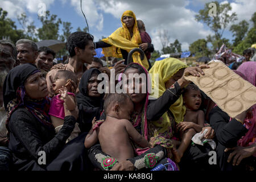
M 51 15 L 49 11 L 46 11 L 46 16 L 38 16 L 38 19 L 42 23 L 42 27 L 38 28 L 38 38 L 40 40 L 47 39 L 59 39 L 59 26 L 61 19 L 57 19 L 57 15 Z

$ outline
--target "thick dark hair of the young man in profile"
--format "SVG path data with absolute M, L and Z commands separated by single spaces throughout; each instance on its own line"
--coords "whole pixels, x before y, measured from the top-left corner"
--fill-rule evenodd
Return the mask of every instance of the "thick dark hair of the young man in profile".
M 76 55 L 75 47 L 84 49 L 85 46 L 88 45 L 89 40 L 92 40 L 93 42 L 93 36 L 86 32 L 73 32 L 71 35 L 69 35 L 66 43 L 66 48 L 69 52 L 70 57 Z

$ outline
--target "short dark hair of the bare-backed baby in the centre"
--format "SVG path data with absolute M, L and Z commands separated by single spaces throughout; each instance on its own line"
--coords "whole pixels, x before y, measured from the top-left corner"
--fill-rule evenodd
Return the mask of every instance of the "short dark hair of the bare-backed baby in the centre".
M 104 101 L 104 111 L 108 114 L 108 109 L 113 104 L 117 103 L 119 105 L 125 105 L 127 103 L 127 99 L 131 100 L 130 96 L 125 93 L 109 93 Z

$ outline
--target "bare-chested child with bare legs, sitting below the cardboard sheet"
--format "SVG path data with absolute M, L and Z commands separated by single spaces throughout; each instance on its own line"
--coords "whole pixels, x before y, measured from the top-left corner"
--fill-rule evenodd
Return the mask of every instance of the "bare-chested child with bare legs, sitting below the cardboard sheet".
M 204 111 L 199 110 L 201 105 L 200 89 L 194 84 L 188 84 L 183 93 L 183 103 L 186 107 L 184 121 L 177 125 L 181 134 L 181 142 L 173 154 L 175 162 L 179 163 L 185 150 L 187 150 L 193 135 L 201 132 L 204 127 Z

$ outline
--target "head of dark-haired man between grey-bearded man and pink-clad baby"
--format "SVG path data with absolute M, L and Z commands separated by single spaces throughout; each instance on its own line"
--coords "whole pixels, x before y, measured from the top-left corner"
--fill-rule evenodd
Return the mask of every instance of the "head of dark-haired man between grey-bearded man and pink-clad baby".
M 53 66 L 53 59 L 55 58 L 55 52 L 48 47 L 40 47 L 38 49 L 38 58 L 35 60 L 36 67 L 41 69 L 41 72 L 46 77 Z

